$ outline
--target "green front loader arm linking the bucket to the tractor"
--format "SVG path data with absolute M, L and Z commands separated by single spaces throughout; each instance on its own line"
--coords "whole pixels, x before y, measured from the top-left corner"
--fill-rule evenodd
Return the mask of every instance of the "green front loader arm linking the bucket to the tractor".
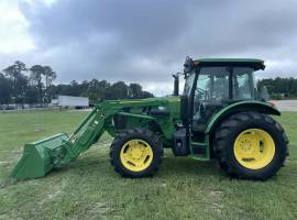
M 127 101 L 105 101 L 99 103 L 85 120 L 78 125 L 74 133 L 69 136 L 62 148 L 57 148 L 58 157 L 63 160 L 57 161 L 56 166 L 65 165 L 76 158 L 80 153 L 87 151 L 95 144 L 112 123 L 112 117 L 117 113 L 127 117 L 139 117 L 147 120 L 155 120 L 153 117 L 146 114 L 127 113 L 122 110 L 127 107 L 153 107 L 158 106 L 160 102 L 143 101 L 143 100 L 127 100 Z M 66 154 L 65 154 L 66 152 Z M 65 155 L 63 155 L 65 154 Z

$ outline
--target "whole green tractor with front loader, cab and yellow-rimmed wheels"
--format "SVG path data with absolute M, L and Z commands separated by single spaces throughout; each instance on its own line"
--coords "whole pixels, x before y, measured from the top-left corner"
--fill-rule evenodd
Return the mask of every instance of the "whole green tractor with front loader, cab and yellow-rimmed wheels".
M 25 144 L 11 176 L 45 176 L 98 142 L 103 132 L 114 139 L 110 161 L 124 177 L 154 175 L 163 148 L 198 161 L 216 158 L 229 175 L 265 180 L 288 155 L 288 139 L 272 116 L 280 116 L 257 91 L 254 72 L 261 59 L 204 58 L 184 64 L 185 88 L 178 95 L 151 99 L 101 101 L 72 135 L 64 133 Z

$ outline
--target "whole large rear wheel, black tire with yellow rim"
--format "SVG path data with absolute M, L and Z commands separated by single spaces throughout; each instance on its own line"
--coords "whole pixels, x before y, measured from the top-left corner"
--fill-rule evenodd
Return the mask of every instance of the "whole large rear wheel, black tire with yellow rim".
M 258 112 L 235 113 L 215 135 L 213 151 L 228 174 L 265 180 L 283 166 L 287 136 L 275 120 Z

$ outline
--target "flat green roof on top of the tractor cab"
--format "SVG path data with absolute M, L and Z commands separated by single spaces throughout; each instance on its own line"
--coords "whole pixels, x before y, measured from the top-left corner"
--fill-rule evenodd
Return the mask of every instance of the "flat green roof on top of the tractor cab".
M 200 58 L 195 59 L 196 66 L 219 66 L 219 65 L 234 65 L 234 66 L 251 66 L 257 69 L 264 69 L 264 61 L 257 58 Z

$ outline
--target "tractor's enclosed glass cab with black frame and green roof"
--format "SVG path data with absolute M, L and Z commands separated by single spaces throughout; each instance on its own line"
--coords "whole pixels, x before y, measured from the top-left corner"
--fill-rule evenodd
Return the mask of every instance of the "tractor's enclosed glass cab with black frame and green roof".
M 265 68 L 261 59 L 187 57 L 184 67 L 183 97 L 195 141 L 204 141 L 210 119 L 222 108 L 260 99 L 253 73 Z

